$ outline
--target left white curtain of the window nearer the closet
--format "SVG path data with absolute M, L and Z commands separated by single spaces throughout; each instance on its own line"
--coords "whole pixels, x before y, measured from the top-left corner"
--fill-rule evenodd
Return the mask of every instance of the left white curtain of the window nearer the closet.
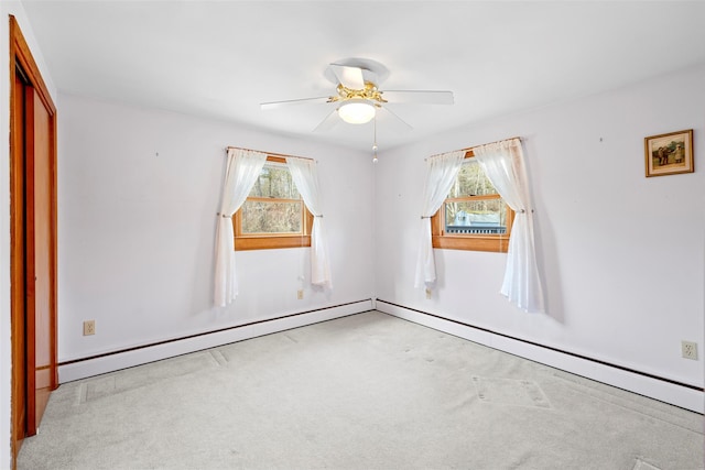
M 225 307 L 238 295 L 238 282 L 235 275 L 235 233 L 232 215 L 250 194 L 260 176 L 267 154 L 251 150 L 228 149 L 223 201 L 216 227 L 216 272 L 214 303 Z

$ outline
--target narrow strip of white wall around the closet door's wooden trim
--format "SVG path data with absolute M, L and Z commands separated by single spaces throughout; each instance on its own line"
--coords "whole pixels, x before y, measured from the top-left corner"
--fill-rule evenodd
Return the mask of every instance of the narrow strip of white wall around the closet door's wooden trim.
M 34 33 L 19 1 L 0 2 L 0 468 L 10 468 L 12 452 L 10 448 L 10 389 L 12 382 L 12 356 L 10 349 L 10 28 L 8 15 L 14 15 L 20 24 L 34 62 L 40 68 L 44 83 L 54 103 L 57 103 L 56 88 L 46 68 L 42 51 L 36 44 Z

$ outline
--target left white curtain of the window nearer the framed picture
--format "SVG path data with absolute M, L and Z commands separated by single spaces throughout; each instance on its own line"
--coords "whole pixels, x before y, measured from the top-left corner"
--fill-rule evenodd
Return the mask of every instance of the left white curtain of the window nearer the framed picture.
M 419 237 L 419 256 L 414 286 L 423 288 L 436 281 L 436 263 L 433 258 L 431 217 L 438 211 L 448 197 L 451 187 L 458 175 L 465 159 L 465 151 L 444 153 L 426 160 L 426 183 L 421 208 L 421 232 Z

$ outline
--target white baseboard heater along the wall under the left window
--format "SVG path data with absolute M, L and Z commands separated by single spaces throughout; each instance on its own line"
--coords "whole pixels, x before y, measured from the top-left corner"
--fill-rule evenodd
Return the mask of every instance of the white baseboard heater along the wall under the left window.
M 58 364 L 58 382 L 72 382 L 371 309 L 373 309 L 372 299 L 368 298 L 61 362 Z

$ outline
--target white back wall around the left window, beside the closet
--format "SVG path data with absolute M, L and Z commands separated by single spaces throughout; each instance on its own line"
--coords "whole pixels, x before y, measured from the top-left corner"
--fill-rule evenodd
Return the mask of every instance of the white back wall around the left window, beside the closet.
M 62 95 L 59 117 L 59 362 L 373 296 L 366 155 L 75 96 Z M 318 161 L 332 292 L 311 287 L 308 249 L 243 251 L 240 295 L 212 306 L 227 145 Z

